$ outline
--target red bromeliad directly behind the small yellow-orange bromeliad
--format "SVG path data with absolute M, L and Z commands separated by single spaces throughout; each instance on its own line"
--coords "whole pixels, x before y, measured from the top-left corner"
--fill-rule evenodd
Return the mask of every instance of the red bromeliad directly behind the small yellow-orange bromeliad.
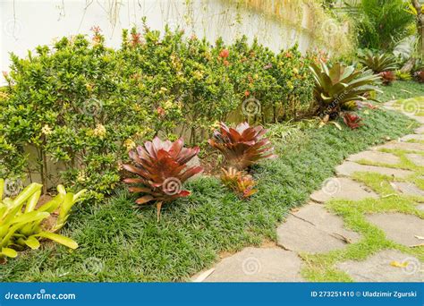
M 235 129 L 220 123 L 209 144 L 220 150 L 230 166 L 243 170 L 262 158 L 276 157 L 271 142 L 263 137 L 267 132 L 262 126 L 251 127 L 240 123 Z

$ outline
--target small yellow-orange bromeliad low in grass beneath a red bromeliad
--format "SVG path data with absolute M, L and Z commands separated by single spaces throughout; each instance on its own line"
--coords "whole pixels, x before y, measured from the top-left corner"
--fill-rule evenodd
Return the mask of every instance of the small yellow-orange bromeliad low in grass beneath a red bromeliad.
M 233 167 L 222 168 L 222 171 L 221 182 L 224 183 L 225 187 L 234 191 L 241 199 L 249 199 L 258 192 L 255 189 L 256 182 L 251 175 Z

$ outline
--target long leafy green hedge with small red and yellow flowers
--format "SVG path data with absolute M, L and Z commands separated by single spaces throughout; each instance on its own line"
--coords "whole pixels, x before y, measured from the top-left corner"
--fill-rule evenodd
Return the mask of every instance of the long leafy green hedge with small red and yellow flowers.
M 310 106 L 312 55 L 293 47 L 275 54 L 247 38 L 221 39 L 123 31 L 122 47 L 107 48 L 101 30 L 62 38 L 26 58 L 12 55 L 7 97 L 0 99 L 0 174 L 56 174 L 101 200 L 120 182 L 128 150 L 159 135 L 204 141 L 219 121 L 269 123 L 293 119 Z M 246 113 L 246 101 L 260 104 Z M 28 158 L 28 148 L 37 156 Z M 29 163 L 35 159 L 36 164 Z M 46 190 L 45 190 L 46 191 Z

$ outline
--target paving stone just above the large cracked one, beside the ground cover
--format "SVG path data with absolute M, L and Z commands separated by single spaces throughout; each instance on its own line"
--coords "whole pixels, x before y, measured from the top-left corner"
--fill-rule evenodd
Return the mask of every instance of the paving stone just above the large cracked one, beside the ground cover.
M 325 203 L 328 200 L 363 200 L 366 198 L 377 199 L 378 195 L 369 190 L 365 185 L 346 177 L 333 177 L 324 182 L 319 191 L 310 195 L 310 200 Z

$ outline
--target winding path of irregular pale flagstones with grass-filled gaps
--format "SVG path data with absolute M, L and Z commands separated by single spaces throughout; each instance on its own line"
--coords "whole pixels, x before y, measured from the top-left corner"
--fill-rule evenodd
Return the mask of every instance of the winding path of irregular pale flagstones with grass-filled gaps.
M 386 108 L 394 109 L 393 103 Z M 246 248 L 222 259 L 216 267 L 192 277 L 193 282 L 302 282 L 301 268 L 308 263 L 301 258 L 304 254 L 324 254 L 329 251 L 345 250 L 349 244 L 360 242 L 361 235 L 348 229 L 343 218 L 329 212 L 329 200 L 379 200 L 378 195 L 364 183 L 352 179 L 352 174 L 369 172 L 385 174 L 393 178 L 391 186 L 400 195 L 422 197 L 424 191 L 407 182 L 414 174 L 411 170 L 390 167 L 399 165 L 401 158 L 380 149 L 402 149 L 406 157 L 416 166 L 424 166 L 424 117 L 411 114 L 423 124 L 415 134 L 397 141 L 377 146 L 348 157 L 336 167 L 336 177 L 326 180 L 319 191 L 310 196 L 310 203 L 293 210 L 277 230 L 276 245 L 264 248 Z M 415 142 L 413 142 L 415 141 Z M 371 166 L 363 164 L 378 164 Z M 381 198 L 380 198 L 381 197 Z M 424 200 L 423 200 L 424 202 Z M 424 209 L 416 203 L 417 211 Z M 406 248 L 422 248 L 424 243 L 424 219 L 397 211 L 378 211 L 364 215 L 365 222 L 376 226 L 386 234 L 389 242 Z M 402 249 L 402 247 L 399 247 Z M 399 249 L 398 248 L 398 249 Z M 402 249 L 403 250 L 403 249 Z M 424 264 L 411 254 L 398 250 L 371 252 L 362 259 L 336 262 L 334 268 L 358 282 L 422 282 Z

